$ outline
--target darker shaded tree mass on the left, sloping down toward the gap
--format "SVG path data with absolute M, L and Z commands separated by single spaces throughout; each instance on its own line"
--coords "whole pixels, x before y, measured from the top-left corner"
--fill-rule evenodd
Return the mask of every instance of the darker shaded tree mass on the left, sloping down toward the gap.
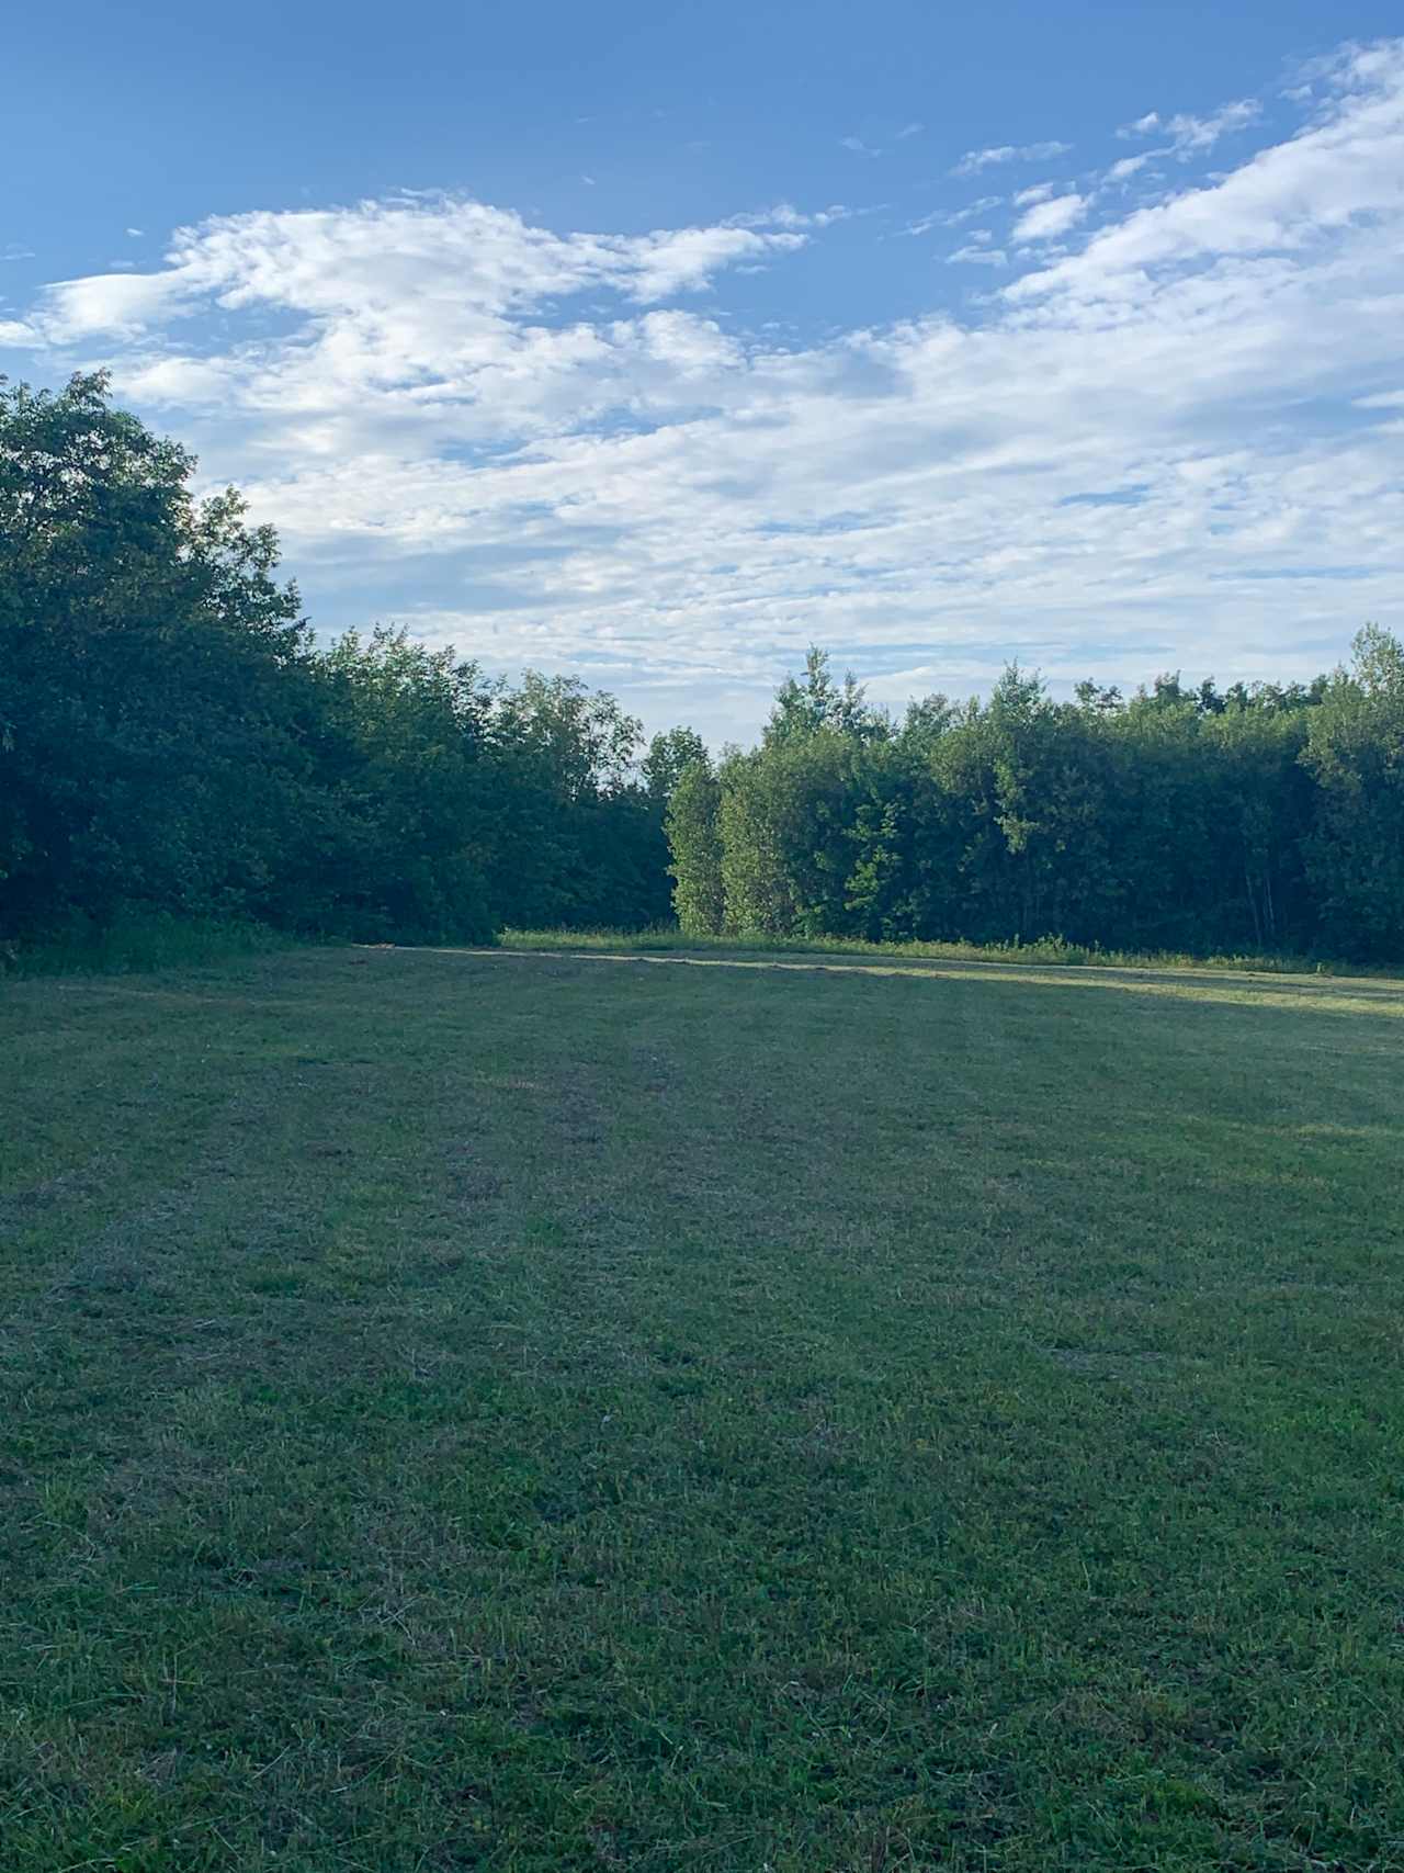
M 384 627 L 318 650 L 273 532 L 232 491 L 193 502 L 193 468 L 101 375 L 0 391 L 0 942 L 668 914 L 696 736 L 636 779 L 638 723 L 571 678 L 509 687 Z

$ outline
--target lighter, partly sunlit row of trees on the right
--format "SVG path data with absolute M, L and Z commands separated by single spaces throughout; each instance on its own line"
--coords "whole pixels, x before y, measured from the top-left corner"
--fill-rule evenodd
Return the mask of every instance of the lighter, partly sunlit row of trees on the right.
M 1056 702 L 1015 667 L 988 702 L 930 697 L 900 725 L 811 652 L 760 745 L 668 830 L 696 933 L 1393 963 L 1404 650 L 1367 631 L 1350 674 L 1163 676 L 1129 701 Z

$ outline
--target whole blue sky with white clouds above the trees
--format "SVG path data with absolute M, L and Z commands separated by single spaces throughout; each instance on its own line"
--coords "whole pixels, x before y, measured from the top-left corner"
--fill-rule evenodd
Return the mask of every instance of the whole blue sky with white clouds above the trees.
M 1395 34 L 1391 37 L 1391 32 Z M 0 373 L 238 483 L 314 626 L 747 742 L 1404 627 L 1397 0 L 26 7 Z

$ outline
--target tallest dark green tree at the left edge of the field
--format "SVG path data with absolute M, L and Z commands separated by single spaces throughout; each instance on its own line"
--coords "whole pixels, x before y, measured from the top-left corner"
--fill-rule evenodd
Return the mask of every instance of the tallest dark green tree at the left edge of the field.
M 277 543 L 99 375 L 0 390 L 0 918 L 268 897 L 296 837 L 311 642 Z

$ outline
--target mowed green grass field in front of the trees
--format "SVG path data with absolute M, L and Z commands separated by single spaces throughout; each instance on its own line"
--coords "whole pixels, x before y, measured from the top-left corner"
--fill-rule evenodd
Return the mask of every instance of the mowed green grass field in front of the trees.
M 1404 985 L 0 989 L 0 1866 L 1404 1867 Z

